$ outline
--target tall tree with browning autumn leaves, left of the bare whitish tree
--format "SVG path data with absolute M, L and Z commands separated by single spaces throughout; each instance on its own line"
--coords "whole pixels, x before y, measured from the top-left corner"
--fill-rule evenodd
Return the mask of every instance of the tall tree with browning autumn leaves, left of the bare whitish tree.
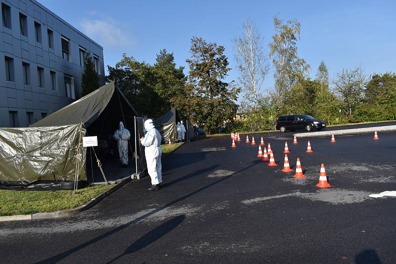
M 179 102 L 206 132 L 217 132 L 226 122 L 233 121 L 240 88 L 224 82 L 230 71 L 224 46 L 193 37 L 190 50 L 192 58 L 186 60 L 190 67 L 186 96 Z

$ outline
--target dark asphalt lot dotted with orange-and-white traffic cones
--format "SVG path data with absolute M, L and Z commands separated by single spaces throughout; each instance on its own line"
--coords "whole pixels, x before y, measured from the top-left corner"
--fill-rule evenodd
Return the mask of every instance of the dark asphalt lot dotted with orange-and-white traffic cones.
M 278 166 L 244 134 L 236 148 L 230 137 L 190 142 L 163 159 L 159 191 L 145 178 L 76 216 L 0 222 L 1 262 L 396 263 L 396 198 L 369 197 L 396 190 L 396 132 L 253 135 Z M 285 141 L 305 178 L 281 172 Z M 330 188 L 315 186 L 321 163 Z

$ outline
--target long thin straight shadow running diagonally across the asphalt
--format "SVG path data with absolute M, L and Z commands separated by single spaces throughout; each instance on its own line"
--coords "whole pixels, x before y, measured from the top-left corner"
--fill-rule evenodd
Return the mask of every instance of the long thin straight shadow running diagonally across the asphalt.
M 81 250 L 81 249 L 84 249 L 84 248 L 86 248 L 86 247 L 88 247 L 88 246 L 91 246 L 92 244 L 95 244 L 96 242 L 98 242 L 98 241 L 100 241 L 100 240 L 102 240 L 102 239 L 104 239 L 104 238 L 106 238 L 106 237 L 108 237 L 108 236 L 110 236 L 110 235 L 112 235 L 112 234 L 114 234 L 114 233 L 117 233 L 117 232 L 119 232 L 119 231 L 125 229 L 126 227 L 131 226 L 131 225 L 134 224 L 134 223 L 137 223 L 137 222 L 139 222 L 139 221 L 141 221 L 141 220 L 144 220 L 144 219 L 146 219 L 147 217 L 152 216 L 153 214 L 156 214 L 156 213 L 158 213 L 158 212 L 160 212 L 160 211 L 162 211 L 162 210 L 164 210 L 164 209 L 166 209 L 166 208 L 168 208 L 168 207 L 170 207 L 170 206 L 173 206 L 174 204 L 176 204 L 176 203 L 178 203 L 178 202 L 180 202 L 180 201 L 183 201 L 183 200 L 185 200 L 185 199 L 187 199 L 187 198 L 189 198 L 189 197 L 191 197 L 191 196 L 193 196 L 193 195 L 196 195 L 197 193 L 199 193 L 199 192 L 201 192 L 201 191 L 203 191 L 203 190 L 205 190 L 205 189 L 207 189 L 207 188 L 209 188 L 209 187 L 211 187 L 211 186 L 213 186 L 213 185 L 215 185 L 215 184 L 218 184 L 218 183 L 222 182 L 223 180 L 228 179 L 229 177 L 232 177 L 232 176 L 234 176 L 234 175 L 237 175 L 238 173 L 241 173 L 241 172 L 243 172 L 243 171 L 246 171 L 247 169 L 249 169 L 249 168 L 251 168 L 251 167 L 253 167 L 253 166 L 255 166 L 255 165 L 259 164 L 259 163 L 260 163 L 259 161 L 253 161 L 253 162 L 251 162 L 251 165 L 245 167 L 245 168 L 242 169 L 242 170 L 239 170 L 238 172 L 235 172 L 235 173 L 233 173 L 233 174 L 231 174 L 231 175 L 229 175 L 229 176 L 224 176 L 224 177 L 222 177 L 222 178 L 219 179 L 219 180 L 216 180 L 216 181 L 214 181 L 214 182 L 212 182 L 212 183 L 210 183 L 210 184 L 207 184 L 206 186 L 203 186 L 203 187 L 199 188 L 199 189 L 196 190 L 196 191 L 193 191 L 193 192 L 191 192 L 191 193 L 189 193 L 189 194 L 186 194 L 185 196 L 182 196 L 182 197 L 180 197 L 180 198 L 178 198 L 178 199 L 176 199 L 176 200 L 174 200 L 174 201 L 172 201 L 172 202 L 169 202 L 169 203 L 167 203 L 166 205 L 164 205 L 164 206 L 162 206 L 162 207 L 160 207 L 160 208 L 157 208 L 157 209 L 155 209 L 155 210 L 153 210 L 153 211 L 151 211 L 151 212 L 149 212 L 149 213 L 147 213 L 147 214 L 145 214 L 145 215 L 143 215 L 143 216 L 141 216 L 141 217 L 138 217 L 138 218 L 136 218 L 136 219 L 134 219 L 134 220 L 132 220 L 132 221 L 126 223 L 126 224 L 120 225 L 120 226 L 118 226 L 118 227 L 116 227 L 116 228 L 114 228 L 114 229 L 112 229 L 112 230 L 110 230 L 110 231 L 108 231 L 108 232 L 105 232 L 104 234 L 101 234 L 101 235 L 99 235 L 99 236 L 97 236 L 97 237 L 95 237 L 95 238 L 93 238 L 93 239 L 91 239 L 91 240 L 89 240 L 89 241 L 87 241 L 87 242 L 81 244 L 81 245 L 78 245 L 78 246 L 76 246 L 76 247 L 74 247 L 74 248 L 71 248 L 71 249 L 69 249 L 68 251 L 65 251 L 65 252 L 63 252 L 63 253 L 59 253 L 59 254 L 57 254 L 57 255 L 55 255 L 55 256 L 52 256 L 52 257 L 50 257 L 50 258 L 48 258 L 48 259 L 46 259 L 46 260 L 41 261 L 41 262 L 38 262 L 38 264 L 57 263 L 57 262 L 59 262 L 59 261 L 65 259 L 65 258 L 67 258 L 69 255 L 71 255 L 71 254 L 73 254 L 73 253 L 75 253 L 75 252 L 77 252 L 77 251 L 79 251 L 79 250 Z M 216 167 L 218 167 L 218 166 L 219 166 L 219 165 L 214 165 L 214 166 L 212 166 L 212 167 L 216 168 Z M 202 174 L 202 173 L 207 172 L 207 171 L 208 171 L 208 170 L 206 170 L 206 169 L 198 170 L 198 171 L 196 171 L 196 172 L 193 173 L 193 174 L 195 174 L 195 176 L 197 176 L 198 173 Z M 192 174 L 192 175 L 193 175 L 193 174 Z M 128 250 L 128 249 L 127 249 L 127 250 Z M 126 250 L 126 251 L 127 251 L 127 250 Z

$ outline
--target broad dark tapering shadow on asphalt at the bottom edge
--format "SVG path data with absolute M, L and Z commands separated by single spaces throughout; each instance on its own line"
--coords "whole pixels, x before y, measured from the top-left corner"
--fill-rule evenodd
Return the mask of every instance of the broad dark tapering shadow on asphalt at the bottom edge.
M 169 233 L 170 231 L 175 229 L 185 219 L 186 219 L 186 216 L 177 216 L 175 218 L 172 218 L 171 220 L 168 220 L 168 221 L 158 225 L 157 227 L 155 227 L 154 229 L 149 231 L 147 234 L 145 234 L 144 236 L 142 236 L 141 238 L 139 238 L 138 240 L 133 242 L 124 251 L 124 253 L 122 253 L 120 256 L 114 258 L 113 260 L 109 261 L 108 264 L 113 263 L 126 255 L 132 254 L 138 250 L 141 250 L 141 249 L 149 246 L 150 244 L 154 243 L 155 241 L 157 241 L 158 239 L 160 239 L 161 237 L 163 237 L 164 235 L 166 235 L 167 233 Z

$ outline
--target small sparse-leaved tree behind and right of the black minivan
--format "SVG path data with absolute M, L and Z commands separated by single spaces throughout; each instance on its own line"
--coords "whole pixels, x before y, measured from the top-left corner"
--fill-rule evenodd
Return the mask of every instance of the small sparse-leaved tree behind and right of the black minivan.
M 345 103 L 342 110 L 347 116 L 352 115 L 354 106 L 362 102 L 366 85 L 366 76 L 362 68 L 343 69 L 341 72 L 337 72 L 333 84 Z

